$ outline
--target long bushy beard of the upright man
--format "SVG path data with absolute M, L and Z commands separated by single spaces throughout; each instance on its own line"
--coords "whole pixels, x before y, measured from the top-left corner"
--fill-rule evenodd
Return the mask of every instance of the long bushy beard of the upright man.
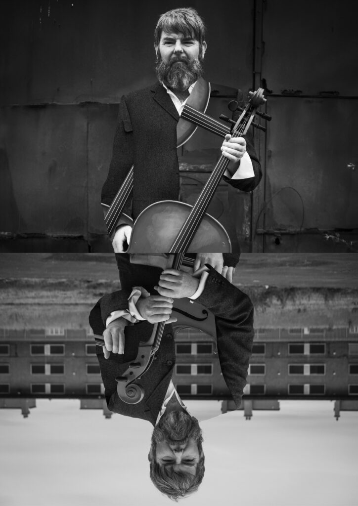
M 158 57 L 156 75 L 168 88 L 184 92 L 203 75 L 202 62 L 201 56 L 194 60 L 176 57 L 168 63 Z

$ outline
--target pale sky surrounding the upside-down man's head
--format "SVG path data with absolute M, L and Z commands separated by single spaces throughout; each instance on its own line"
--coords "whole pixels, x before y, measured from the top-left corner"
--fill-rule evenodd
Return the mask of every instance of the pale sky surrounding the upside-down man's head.
M 220 415 L 218 401 L 187 402 L 202 421 L 206 472 L 191 506 L 353 506 L 358 504 L 358 412 L 330 401 L 282 401 L 280 411 Z M 218 416 L 217 416 L 218 415 Z M 213 417 L 206 419 L 208 417 Z M 151 425 L 77 400 L 37 400 L 28 418 L 0 410 L 0 504 L 161 506 L 152 485 Z

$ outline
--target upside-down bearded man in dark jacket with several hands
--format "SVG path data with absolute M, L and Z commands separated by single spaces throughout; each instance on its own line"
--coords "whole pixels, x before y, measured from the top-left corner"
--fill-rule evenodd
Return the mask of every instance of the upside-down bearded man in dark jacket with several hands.
M 150 477 L 159 490 L 177 499 L 200 485 L 205 457 L 198 422 L 188 413 L 171 380 L 175 365 L 173 301 L 189 298 L 214 314 L 220 366 L 237 407 L 252 353 L 253 306 L 245 293 L 208 264 L 194 275 L 174 269 L 162 273 L 157 268 L 146 269 L 141 286 L 105 294 L 92 309 L 90 324 L 95 334 L 104 337 L 103 350 L 96 348 L 108 408 L 154 426 L 148 454 Z M 116 378 L 136 357 L 139 341 L 148 329 L 150 334 L 150 322 L 160 321 L 167 322 L 165 337 L 150 368 L 136 380 L 144 397 L 137 404 L 128 404 L 118 397 Z M 125 338 L 127 325 L 134 330 L 130 340 Z

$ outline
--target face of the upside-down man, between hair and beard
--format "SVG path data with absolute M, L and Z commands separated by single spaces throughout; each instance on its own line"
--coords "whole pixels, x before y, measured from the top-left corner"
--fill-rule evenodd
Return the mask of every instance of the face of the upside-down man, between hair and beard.
M 195 475 L 199 459 L 200 455 L 197 444 L 192 438 L 180 444 L 160 441 L 156 445 L 156 462 L 161 467 L 173 466 L 176 473 L 182 471 Z

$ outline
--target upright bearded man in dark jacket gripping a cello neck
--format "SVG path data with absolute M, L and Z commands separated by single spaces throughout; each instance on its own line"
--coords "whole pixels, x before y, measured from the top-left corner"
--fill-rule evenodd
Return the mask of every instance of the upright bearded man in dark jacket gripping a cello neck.
M 102 189 L 102 202 L 109 205 L 134 165 L 133 200 L 124 212 L 134 220 L 148 205 L 162 200 L 178 200 L 179 164 L 177 156 L 177 123 L 183 107 L 202 79 L 207 49 L 205 26 L 191 8 L 175 9 L 162 15 L 154 34 L 158 82 L 134 91 L 121 99 L 108 177 Z M 204 93 L 204 92 L 203 92 Z M 237 101 L 243 105 L 239 90 Z M 238 118 L 238 112 L 234 119 Z M 224 180 L 234 188 L 252 191 L 261 179 L 261 168 L 255 153 L 253 137 L 225 137 L 222 154 L 230 160 Z M 129 199 L 130 200 L 130 199 Z M 131 226 L 118 222 L 113 238 L 115 252 L 126 250 Z M 205 259 L 220 268 L 232 266 L 217 258 Z

